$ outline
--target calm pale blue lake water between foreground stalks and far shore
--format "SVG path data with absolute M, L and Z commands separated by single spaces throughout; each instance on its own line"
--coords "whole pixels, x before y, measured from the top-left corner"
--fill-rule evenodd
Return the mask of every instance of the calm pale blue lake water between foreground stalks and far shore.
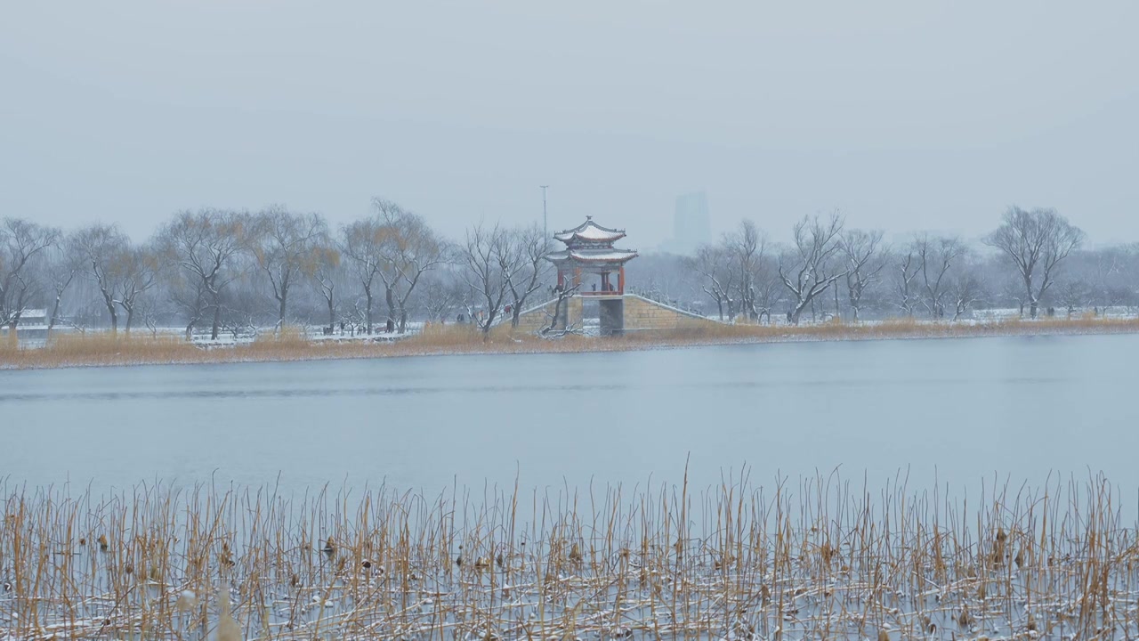
M 1139 336 L 0 372 L 0 478 L 292 488 L 754 484 L 1139 488 Z

